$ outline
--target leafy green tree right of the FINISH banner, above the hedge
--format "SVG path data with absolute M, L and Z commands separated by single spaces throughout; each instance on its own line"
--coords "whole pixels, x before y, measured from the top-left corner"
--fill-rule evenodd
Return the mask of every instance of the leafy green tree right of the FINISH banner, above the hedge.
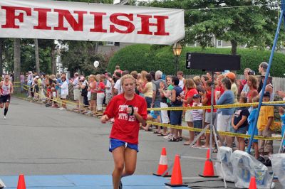
M 166 0 L 147 6 L 185 9 L 185 43 L 212 46 L 212 37 L 238 45 L 271 46 L 276 31 L 276 4 L 267 0 Z

